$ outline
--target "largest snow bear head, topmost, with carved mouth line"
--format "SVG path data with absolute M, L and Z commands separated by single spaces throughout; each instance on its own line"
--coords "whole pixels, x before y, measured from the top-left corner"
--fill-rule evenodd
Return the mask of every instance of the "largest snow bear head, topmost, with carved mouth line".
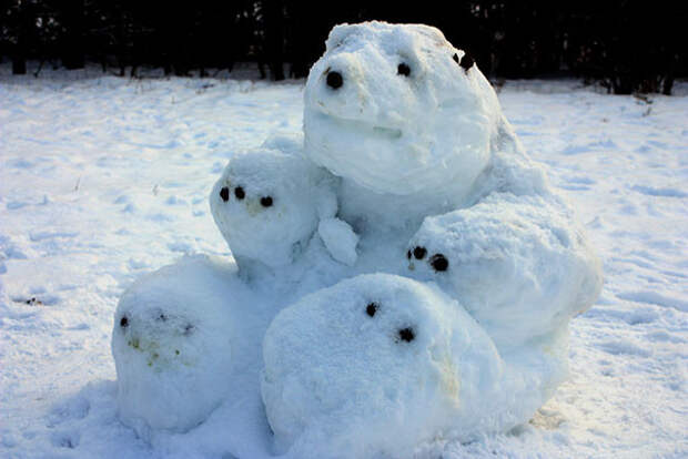
M 499 116 L 485 76 L 439 30 L 337 26 L 306 83 L 306 153 L 376 193 L 464 195 L 489 160 Z

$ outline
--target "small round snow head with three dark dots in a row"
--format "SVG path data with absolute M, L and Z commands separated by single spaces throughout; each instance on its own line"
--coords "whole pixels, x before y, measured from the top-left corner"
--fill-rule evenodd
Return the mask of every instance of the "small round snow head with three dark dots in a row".
M 232 157 L 210 196 L 213 217 L 234 257 L 272 267 L 291 263 L 315 232 L 318 213 L 336 207 L 326 171 L 279 150 Z M 323 202 L 330 197 L 328 205 Z M 328 208 L 334 215 L 334 208 Z

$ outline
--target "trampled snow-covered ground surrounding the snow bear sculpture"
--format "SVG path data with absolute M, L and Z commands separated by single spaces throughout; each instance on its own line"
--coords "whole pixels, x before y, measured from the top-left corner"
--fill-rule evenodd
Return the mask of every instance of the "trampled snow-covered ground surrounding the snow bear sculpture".
M 85 75 L 0 68 L 0 456 L 234 457 L 221 428 L 151 446 L 120 424 L 113 312 L 145 272 L 229 255 L 208 194 L 232 152 L 301 129 L 303 82 Z M 688 96 L 509 81 L 499 99 L 577 206 L 606 285 L 573 323 L 554 399 L 438 452 L 686 457 Z

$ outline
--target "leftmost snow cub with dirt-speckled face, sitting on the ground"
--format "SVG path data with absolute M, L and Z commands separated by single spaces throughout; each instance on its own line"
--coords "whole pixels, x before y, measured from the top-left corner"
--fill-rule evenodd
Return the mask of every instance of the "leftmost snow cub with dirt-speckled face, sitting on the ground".
M 245 295 L 235 265 L 203 255 L 142 277 L 122 295 L 112 330 L 122 421 L 148 438 L 208 418 L 232 390 L 237 320 L 252 304 Z

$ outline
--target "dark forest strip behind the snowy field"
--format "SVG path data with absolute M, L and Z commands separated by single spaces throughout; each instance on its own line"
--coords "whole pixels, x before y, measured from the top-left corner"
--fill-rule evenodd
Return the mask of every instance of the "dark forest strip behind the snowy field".
M 38 72 L 98 63 L 123 76 L 142 68 L 209 75 L 247 61 L 263 78 L 302 78 L 332 26 L 380 19 L 438 27 L 493 79 L 568 74 L 617 94 L 670 94 L 688 75 L 681 3 L 0 0 L 0 61 L 18 74 L 36 60 Z

